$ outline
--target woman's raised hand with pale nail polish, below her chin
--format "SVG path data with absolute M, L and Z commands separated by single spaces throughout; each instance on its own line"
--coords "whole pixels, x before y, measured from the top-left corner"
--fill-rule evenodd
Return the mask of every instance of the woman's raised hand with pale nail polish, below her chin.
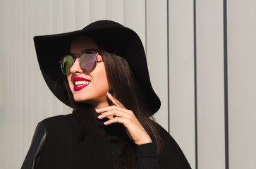
M 124 127 L 126 127 L 126 133 L 137 145 L 152 142 L 149 134 L 147 134 L 144 127 L 142 127 L 138 119 L 135 117 L 133 111 L 125 108 L 123 104 L 121 104 L 121 102 L 115 99 L 111 94 L 107 93 L 106 95 L 109 100 L 112 101 L 114 106 L 96 109 L 97 113 L 101 113 L 98 118 L 103 119 L 109 116 L 115 116 L 114 118 L 104 122 L 104 125 L 110 125 L 112 123 L 123 124 Z

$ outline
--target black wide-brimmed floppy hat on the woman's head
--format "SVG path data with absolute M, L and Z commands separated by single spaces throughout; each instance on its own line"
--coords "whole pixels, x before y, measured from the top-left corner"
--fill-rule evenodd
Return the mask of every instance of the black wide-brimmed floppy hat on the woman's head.
M 59 80 L 61 68 L 59 60 L 68 54 L 71 41 L 79 35 L 89 35 L 106 45 L 109 53 L 126 59 L 133 71 L 152 113 L 156 113 L 161 102 L 152 89 L 147 69 L 145 51 L 140 37 L 128 27 L 111 20 L 99 20 L 74 32 L 34 37 L 39 67 L 51 92 L 64 104 L 71 106 L 63 80 Z

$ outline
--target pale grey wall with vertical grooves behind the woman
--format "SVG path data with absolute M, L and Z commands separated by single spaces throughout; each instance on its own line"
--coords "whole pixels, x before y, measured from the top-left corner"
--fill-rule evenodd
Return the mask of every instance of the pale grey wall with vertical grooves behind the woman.
M 115 20 L 135 30 L 161 99 L 155 115 L 192 168 L 255 168 L 256 1 L 1 0 L 0 163 L 20 168 L 37 123 L 71 113 L 32 38 Z

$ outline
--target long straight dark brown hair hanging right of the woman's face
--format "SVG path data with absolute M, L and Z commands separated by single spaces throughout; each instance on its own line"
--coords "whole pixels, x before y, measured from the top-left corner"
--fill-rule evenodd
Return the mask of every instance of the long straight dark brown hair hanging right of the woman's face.
M 149 110 L 140 85 L 135 80 L 130 66 L 121 56 L 102 52 L 106 67 L 106 76 L 112 94 L 123 106 L 133 111 L 136 118 L 152 137 L 157 152 L 161 152 L 162 140 L 157 131 L 157 123 L 154 122 L 152 112 Z

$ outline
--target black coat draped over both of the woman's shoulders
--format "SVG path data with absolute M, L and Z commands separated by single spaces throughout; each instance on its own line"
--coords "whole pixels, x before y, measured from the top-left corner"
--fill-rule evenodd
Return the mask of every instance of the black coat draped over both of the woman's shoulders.
M 115 128 L 122 130 L 120 126 Z M 150 163 L 159 163 L 160 168 L 190 168 L 178 144 L 166 130 L 159 128 L 164 150 L 159 157 L 150 155 Z M 114 168 L 113 155 L 101 130 L 89 125 L 86 131 L 83 142 L 78 142 L 80 125 L 73 113 L 43 120 L 37 125 L 22 169 Z

